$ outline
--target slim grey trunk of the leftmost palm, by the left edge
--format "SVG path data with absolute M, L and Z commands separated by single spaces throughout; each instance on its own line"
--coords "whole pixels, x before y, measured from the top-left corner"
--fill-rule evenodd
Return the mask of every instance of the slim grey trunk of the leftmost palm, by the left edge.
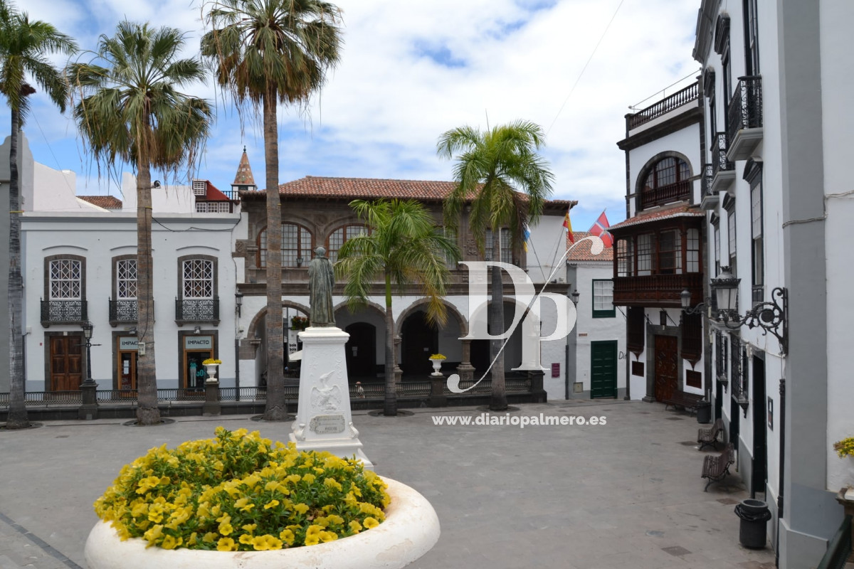
M 20 275 L 20 177 L 18 174 L 18 131 L 20 111 L 12 109 L 12 136 L 9 139 L 9 418 L 7 429 L 30 426 L 24 404 L 24 283 Z

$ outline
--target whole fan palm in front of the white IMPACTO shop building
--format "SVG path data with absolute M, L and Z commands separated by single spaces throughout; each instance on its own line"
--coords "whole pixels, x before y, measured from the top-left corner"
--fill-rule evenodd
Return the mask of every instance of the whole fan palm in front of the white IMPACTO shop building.
M 145 345 L 137 364 L 140 425 L 160 422 L 155 374 L 154 287 L 151 280 L 151 169 L 195 164 L 208 137 L 212 111 L 204 99 L 178 89 L 203 81 L 196 59 L 179 59 L 184 32 L 124 20 L 114 37 L 98 38 L 88 63 L 67 69 L 79 101 L 73 114 L 99 162 L 137 170 L 137 334 Z

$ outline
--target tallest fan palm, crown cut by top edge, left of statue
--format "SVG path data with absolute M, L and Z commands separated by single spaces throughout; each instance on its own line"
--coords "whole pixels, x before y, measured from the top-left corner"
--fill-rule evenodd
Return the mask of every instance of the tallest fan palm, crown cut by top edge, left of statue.
M 322 0 L 213 0 L 202 38 L 219 86 L 249 105 L 264 129 L 266 165 L 265 421 L 288 418 L 284 399 L 282 202 L 278 195 L 278 103 L 307 104 L 340 58 L 340 10 Z

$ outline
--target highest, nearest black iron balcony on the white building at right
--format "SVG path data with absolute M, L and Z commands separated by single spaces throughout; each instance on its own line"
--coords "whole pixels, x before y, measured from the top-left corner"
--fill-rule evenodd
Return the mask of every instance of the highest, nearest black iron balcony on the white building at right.
M 740 77 L 727 115 L 728 160 L 747 160 L 762 142 L 762 78 Z

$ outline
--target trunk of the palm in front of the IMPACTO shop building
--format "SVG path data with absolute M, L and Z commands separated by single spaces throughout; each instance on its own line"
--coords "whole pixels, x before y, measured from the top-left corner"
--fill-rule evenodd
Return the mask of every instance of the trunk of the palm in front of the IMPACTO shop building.
M 145 154 L 141 152 L 140 154 Z M 137 424 L 157 425 L 157 372 L 155 366 L 155 293 L 151 275 L 151 169 L 148 156 L 140 156 L 137 172 L 137 334 L 145 346 L 137 362 Z

